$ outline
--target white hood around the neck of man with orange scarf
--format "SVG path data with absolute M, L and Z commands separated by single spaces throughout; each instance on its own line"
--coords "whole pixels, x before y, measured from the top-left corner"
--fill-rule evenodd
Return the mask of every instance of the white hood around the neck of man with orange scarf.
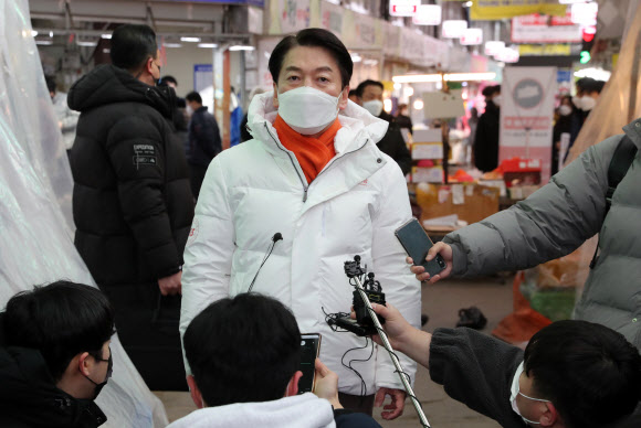
M 276 130 L 272 126 L 276 119 L 279 110 L 274 107 L 273 90 L 256 95 L 250 104 L 248 113 L 248 127 L 252 137 L 270 143 L 271 136 L 276 136 Z M 360 136 L 371 139 L 375 143 L 380 141 L 389 124 L 376 118 L 365 108 L 353 101 L 347 103 L 347 107 L 338 113 L 338 120 L 343 128 L 336 133 L 336 153 L 346 151 L 351 145 L 357 143 Z M 271 136 L 270 136 L 271 133 Z

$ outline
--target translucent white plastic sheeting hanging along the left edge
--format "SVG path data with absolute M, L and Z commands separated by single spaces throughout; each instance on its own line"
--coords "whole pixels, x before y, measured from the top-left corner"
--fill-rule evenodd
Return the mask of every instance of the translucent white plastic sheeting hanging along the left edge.
M 27 0 L 0 0 L 0 309 L 18 291 L 69 279 L 95 287 L 73 245 L 73 181 Z M 165 408 L 114 336 L 105 427 L 165 427 Z

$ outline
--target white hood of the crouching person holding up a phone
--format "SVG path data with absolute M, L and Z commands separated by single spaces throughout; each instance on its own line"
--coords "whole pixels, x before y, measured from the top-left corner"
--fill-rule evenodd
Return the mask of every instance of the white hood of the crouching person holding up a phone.
M 312 393 L 274 402 L 239 403 L 196 410 L 167 428 L 334 428 L 329 402 Z

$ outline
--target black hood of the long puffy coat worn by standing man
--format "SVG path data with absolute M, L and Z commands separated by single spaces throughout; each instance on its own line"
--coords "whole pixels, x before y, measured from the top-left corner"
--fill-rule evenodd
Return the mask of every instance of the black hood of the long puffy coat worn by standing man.
M 70 89 L 72 110 L 85 111 L 114 103 L 146 104 L 170 118 L 176 94 L 168 86 L 149 86 L 114 65 L 98 65 Z

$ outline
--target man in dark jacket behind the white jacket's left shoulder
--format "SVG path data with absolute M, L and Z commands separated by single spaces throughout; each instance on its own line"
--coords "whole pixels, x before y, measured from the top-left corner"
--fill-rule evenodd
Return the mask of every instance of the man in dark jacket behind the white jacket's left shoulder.
M 218 122 L 213 115 L 207 111 L 207 106 L 202 105 L 200 94 L 193 90 L 185 98 L 188 109 L 191 110 L 187 162 L 191 171 L 191 193 L 198 201 L 207 167 L 222 151 L 222 143 Z

